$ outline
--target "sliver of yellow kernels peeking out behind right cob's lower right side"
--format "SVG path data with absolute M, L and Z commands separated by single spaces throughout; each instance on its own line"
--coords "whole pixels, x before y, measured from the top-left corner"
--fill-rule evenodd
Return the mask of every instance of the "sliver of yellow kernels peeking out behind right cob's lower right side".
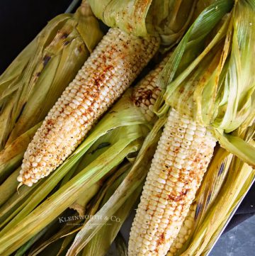
M 183 221 L 183 225 L 181 226 L 181 229 L 176 239 L 171 244 L 169 252 L 167 252 L 166 256 L 174 256 L 175 253 L 178 250 L 180 250 L 181 247 L 183 247 L 184 243 L 186 243 L 186 241 L 188 240 L 188 236 L 191 234 L 191 231 L 195 223 L 195 215 L 196 215 L 196 203 L 191 204 L 188 214 L 185 220 Z

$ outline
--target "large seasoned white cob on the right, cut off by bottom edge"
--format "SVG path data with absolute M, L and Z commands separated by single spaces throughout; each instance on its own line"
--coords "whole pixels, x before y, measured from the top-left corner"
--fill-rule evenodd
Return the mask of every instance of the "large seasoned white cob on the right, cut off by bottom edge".
M 132 223 L 129 256 L 166 255 L 214 147 L 215 138 L 207 128 L 171 109 Z

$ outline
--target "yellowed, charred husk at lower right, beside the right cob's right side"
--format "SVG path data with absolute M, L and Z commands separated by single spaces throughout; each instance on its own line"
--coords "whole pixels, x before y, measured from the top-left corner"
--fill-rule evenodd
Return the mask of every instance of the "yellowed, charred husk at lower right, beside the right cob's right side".
M 254 145 L 254 141 L 251 141 L 251 144 Z M 225 152 L 223 165 L 229 156 L 232 157 L 232 154 Z M 218 174 L 218 187 L 215 183 L 209 183 L 210 179 L 215 179 L 215 174 Z M 223 179 L 220 177 L 222 175 Z M 176 255 L 207 255 L 254 179 L 254 169 L 237 157 L 232 157 L 230 165 L 215 170 L 209 169 L 200 193 L 196 196 L 198 206 L 193 233 Z M 216 193 L 217 196 L 208 197 Z

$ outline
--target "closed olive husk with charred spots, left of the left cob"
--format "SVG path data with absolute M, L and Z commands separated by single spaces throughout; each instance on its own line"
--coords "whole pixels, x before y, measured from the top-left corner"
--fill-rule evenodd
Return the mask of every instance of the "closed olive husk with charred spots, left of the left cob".
M 42 121 L 101 38 L 84 3 L 53 18 L 18 55 L 0 77 L 0 149 Z

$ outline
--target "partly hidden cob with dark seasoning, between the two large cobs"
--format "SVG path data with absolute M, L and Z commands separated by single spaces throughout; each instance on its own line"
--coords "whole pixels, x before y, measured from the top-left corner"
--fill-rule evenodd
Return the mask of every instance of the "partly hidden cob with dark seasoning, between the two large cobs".
M 158 87 L 157 79 L 159 79 L 159 73 L 162 72 L 168 57 L 169 56 L 166 56 L 154 70 L 149 72 L 132 92 L 132 101 L 140 108 L 140 111 L 145 115 L 147 121 L 152 121 L 155 116 L 153 106 L 162 91 L 161 88 Z

